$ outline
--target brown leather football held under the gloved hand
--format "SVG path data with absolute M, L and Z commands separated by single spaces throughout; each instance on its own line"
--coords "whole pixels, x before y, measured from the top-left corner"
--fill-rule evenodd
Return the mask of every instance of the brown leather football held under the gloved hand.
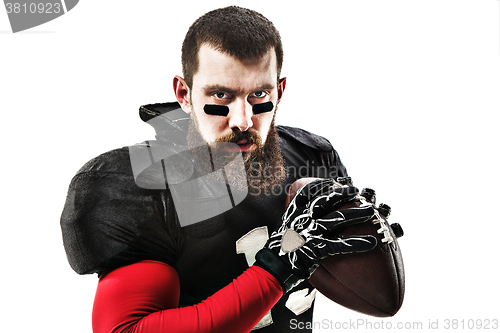
M 288 191 L 287 205 L 298 189 L 316 179 L 302 178 L 293 183 Z M 359 202 L 342 208 L 355 205 Z M 379 231 L 383 225 L 385 233 Z M 330 300 L 349 309 L 376 317 L 395 315 L 403 303 L 405 275 L 401 249 L 387 220 L 346 227 L 340 234 L 373 235 L 377 237 L 377 246 L 368 252 L 323 259 L 309 282 Z

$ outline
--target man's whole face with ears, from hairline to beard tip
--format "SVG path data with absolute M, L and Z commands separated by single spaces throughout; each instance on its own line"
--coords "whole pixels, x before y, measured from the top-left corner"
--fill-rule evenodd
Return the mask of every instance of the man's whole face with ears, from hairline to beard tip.
M 190 146 L 200 147 L 203 142 L 211 146 L 216 142 L 236 143 L 239 148 L 235 148 L 243 153 L 246 177 L 239 170 L 226 168 L 227 176 L 230 179 L 246 178 L 242 179 L 241 185 L 246 188 L 248 184 L 249 193 L 255 195 L 271 193 L 286 177 L 274 127 L 274 115 L 286 79 L 280 79 L 278 83 L 277 77 L 273 49 L 258 60 L 242 62 L 203 45 L 192 89 L 181 77 L 174 78 L 177 100 L 182 109 L 191 114 Z M 274 109 L 255 115 L 253 105 L 266 102 L 272 102 Z M 207 104 L 227 106 L 229 113 L 227 116 L 207 114 L 204 112 Z M 221 148 L 224 147 L 227 148 Z

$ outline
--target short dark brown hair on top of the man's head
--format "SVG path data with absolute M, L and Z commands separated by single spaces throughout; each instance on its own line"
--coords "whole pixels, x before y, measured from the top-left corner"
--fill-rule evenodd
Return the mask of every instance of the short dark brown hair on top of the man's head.
M 182 72 L 190 89 L 198 71 L 198 51 L 202 44 L 242 61 L 259 59 L 274 48 L 279 79 L 283 64 L 280 34 L 271 21 L 256 11 L 237 6 L 220 8 L 191 25 L 182 44 Z

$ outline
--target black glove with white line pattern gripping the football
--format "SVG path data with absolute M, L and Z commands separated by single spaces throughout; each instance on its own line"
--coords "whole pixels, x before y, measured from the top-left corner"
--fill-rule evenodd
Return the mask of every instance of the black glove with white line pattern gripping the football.
M 321 259 L 373 249 L 377 245 L 373 236 L 336 234 L 343 227 L 374 217 L 371 205 L 337 211 L 357 194 L 355 187 L 342 186 L 333 179 L 320 179 L 303 186 L 283 214 L 283 224 L 257 252 L 256 265 L 273 274 L 286 293 L 308 279 Z

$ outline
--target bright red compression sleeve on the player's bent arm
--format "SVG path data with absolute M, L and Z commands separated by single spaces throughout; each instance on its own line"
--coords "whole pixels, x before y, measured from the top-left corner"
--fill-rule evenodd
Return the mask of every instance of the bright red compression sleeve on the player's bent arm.
M 141 261 L 99 279 L 92 313 L 94 333 L 249 332 L 283 295 L 266 270 L 252 266 L 193 306 L 178 308 L 176 270 Z

